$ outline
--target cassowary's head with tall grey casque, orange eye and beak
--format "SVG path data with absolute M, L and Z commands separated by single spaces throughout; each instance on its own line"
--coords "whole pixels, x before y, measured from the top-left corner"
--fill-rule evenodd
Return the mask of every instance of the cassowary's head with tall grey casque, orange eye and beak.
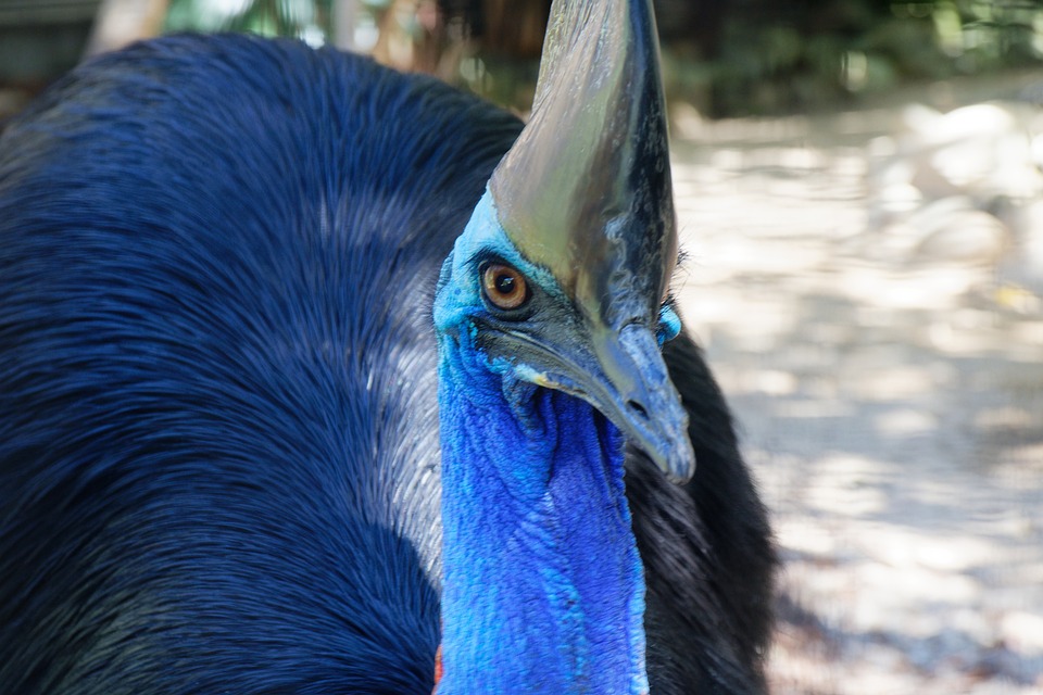
M 532 117 L 447 262 L 436 323 L 588 401 L 684 481 L 688 418 L 658 350 L 680 330 L 676 258 L 650 3 L 556 1 Z

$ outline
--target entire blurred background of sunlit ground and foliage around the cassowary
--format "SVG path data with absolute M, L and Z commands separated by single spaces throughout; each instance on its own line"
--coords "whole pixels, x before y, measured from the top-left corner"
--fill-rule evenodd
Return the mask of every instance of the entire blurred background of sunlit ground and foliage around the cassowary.
M 675 286 L 784 561 L 774 692 L 1043 693 L 1043 0 L 655 5 Z M 0 0 L 0 118 L 184 30 L 367 52 L 524 115 L 549 7 Z

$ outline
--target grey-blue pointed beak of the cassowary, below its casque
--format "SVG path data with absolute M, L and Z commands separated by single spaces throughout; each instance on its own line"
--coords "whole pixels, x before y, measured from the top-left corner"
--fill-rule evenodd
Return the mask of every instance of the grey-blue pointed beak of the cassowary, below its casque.
M 683 483 L 695 472 L 688 413 L 670 381 L 655 333 L 641 324 L 555 340 L 508 331 L 519 378 L 576 395 L 598 408 L 666 477 Z M 558 333 L 561 336 L 561 333 Z

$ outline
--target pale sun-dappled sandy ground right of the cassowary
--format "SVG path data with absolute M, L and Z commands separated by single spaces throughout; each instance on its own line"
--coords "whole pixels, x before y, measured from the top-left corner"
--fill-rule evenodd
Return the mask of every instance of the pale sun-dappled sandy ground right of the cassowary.
M 899 102 L 675 116 L 679 299 L 784 560 L 774 692 L 1043 693 L 1043 302 L 1022 232 L 963 208 L 917 231 L 953 190 L 888 202 L 881 161 L 916 156 L 875 139 L 908 130 Z M 1008 212 L 1043 190 L 1031 176 Z M 998 200 L 972 189 L 969 207 Z

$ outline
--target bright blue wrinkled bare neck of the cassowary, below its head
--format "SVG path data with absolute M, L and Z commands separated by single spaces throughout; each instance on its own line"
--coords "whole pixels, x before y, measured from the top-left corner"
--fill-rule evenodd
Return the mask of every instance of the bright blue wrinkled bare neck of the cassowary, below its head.
M 620 434 L 469 349 L 441 353 L 438 695 L 646 693 Z

